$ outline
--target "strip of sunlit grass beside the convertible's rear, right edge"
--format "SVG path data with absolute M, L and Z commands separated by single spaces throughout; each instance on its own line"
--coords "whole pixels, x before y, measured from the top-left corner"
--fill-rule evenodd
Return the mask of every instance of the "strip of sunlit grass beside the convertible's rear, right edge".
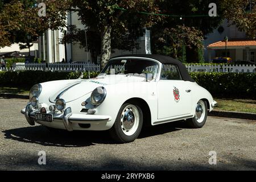
M 222 98 L 216 101 L 218 106 L 214 107 L 214 110 L 256 113 L 256 100 Z

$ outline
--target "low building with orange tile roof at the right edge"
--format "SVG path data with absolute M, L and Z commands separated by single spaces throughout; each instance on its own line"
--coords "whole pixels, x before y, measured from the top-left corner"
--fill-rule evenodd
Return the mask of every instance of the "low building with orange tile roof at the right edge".
M 231 57 L 232 61 L 251 61 L 256 63 L 256 40 L 246 38 L 235 25 L 229 26 L 225 20 L 212 34 L 204 40 L 204 59 L 211 61 L 214 57 Z M 225 41 L 225 38 L 228 40 Z

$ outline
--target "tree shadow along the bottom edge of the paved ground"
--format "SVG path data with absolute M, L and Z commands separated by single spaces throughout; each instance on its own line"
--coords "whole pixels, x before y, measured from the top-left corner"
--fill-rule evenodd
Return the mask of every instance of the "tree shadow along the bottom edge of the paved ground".
M 31 154 L 15 154 L 13 155 L 0 155 L 2 165 L 0 170 L 61 170 L 61 171 L 210 171 L 210 170 L 255 170 L 256 161 L 250 159 L 233 158 L 233 164 L 224 164 L 217 162 L 217 165 L 209 165 L 208 163 L 193 163 L 189 160 L 179 161 L 152 161 L 141 162 L 135 160 L 125 160 L 115 158 L 115 156 L 99 157 L 96 160 L 92 159 L 66 159 L 56 158 L 55 156 L 47 155 L 46 165 L 38 164 L 39 156 Z

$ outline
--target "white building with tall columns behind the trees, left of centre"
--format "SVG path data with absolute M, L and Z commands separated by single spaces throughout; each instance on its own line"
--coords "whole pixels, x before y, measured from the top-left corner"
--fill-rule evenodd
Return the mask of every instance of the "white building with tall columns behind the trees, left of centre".
M 77 28 L 80 28 L 81 30 L 85 29 L 85 26 L 81 23 L 81 20 L 79 20 L 79 16 L 77 15 L 77 12 L 70 12 L 67 15 L 67 23 L 68 25 L 76 25 Z M 63 58 L 65 59 L 65 46 L 63 44 L 60 44 L 59 40 L 63 36 L 63 32 L 60 30 L 53 31 L 48 30 L 43 36 L 39 37 L 39 58 L 42 60 L 46 60 L 47 63 L 56 63 L 60 62 Z M 139 43 L 140 49 L 134 49 L 133 51 L 125 51 L 125 50 L 114 50 L 114 53 L 112 53 L 111 56 L 116 55 L 125 55 L 129 53 L 139 54 L 139 53 L 146 53 L 145 49 L 145 36 L 142 36 L 137 40 L 137 43 Z M 90 52 L 88 51 L 88 59 L 87 59 L 87 52 L 85 51 L 85 48 L 81 48 L 80 44 L 76 43 L 70 43 L 67 44 L 67 60 L 70 61 L 79 61 L 79 62 L 86 62 L 86 63 L 92 63 L 92 57 L 90 55 Z M 98 63 L 100 63 L 100 59 L 97 60 Z

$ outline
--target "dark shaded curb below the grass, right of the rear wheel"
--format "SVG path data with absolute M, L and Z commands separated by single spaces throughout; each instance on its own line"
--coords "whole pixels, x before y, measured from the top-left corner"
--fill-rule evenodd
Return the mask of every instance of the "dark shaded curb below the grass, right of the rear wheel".
M 238 118 L 256 120 L 256 113 L 243 113 L 237 111 L 216 111 L 213 110 L 208 113 L 210 116 L 224 117 L 224 118 Z

